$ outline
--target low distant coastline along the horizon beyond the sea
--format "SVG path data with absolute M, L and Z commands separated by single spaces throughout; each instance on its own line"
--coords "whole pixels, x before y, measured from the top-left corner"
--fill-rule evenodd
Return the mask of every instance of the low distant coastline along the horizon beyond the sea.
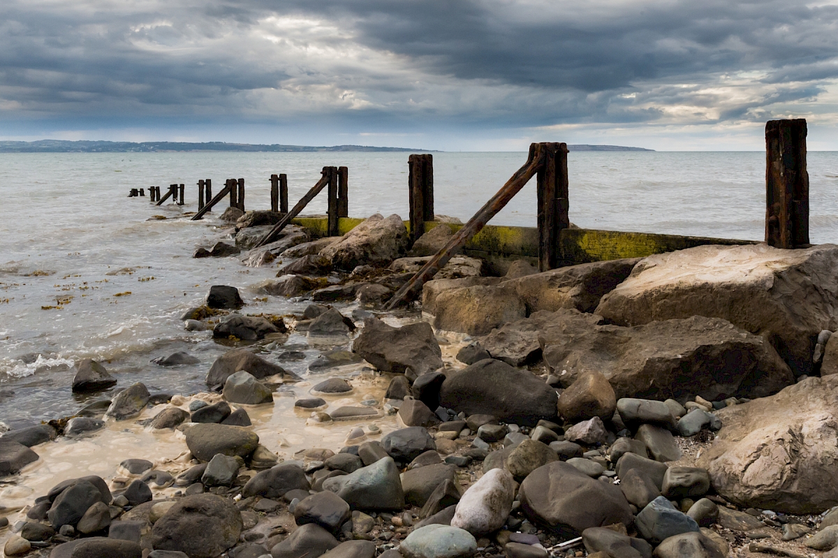
M 617 145 L 569 145 L 570 151 L 654 151 L 643 147 Z M 0 153 L 160 153 L 160 152 L 435 152 L 410 147 L 374 147 L 366 145 L 304 146 L 273 143 L 225 142 L 69 142 L 39 140 L 37 142 L 0 142 Z

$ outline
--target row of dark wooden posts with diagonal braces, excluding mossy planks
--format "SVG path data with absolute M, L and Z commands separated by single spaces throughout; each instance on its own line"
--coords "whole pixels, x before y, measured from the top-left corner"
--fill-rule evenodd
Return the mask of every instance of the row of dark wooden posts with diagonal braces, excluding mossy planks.
M 765 241 L 778 248 L 799 248 L 809 245 L 809 174 L 806 171 L 806 121 L 768 121 L 765 127 L 766 143 L 766 215 Z M 433 157 L 414 154 L 408 158 L 410 169 L 408 192 L 410 199 L 410 236 L 415 242 L 425 232 L 425 223 L 434 220 Z M 284 214 L 257 246 L 276 240 L 284 229 L 306 205 L 323 189 L 328 193 L 328 235 L 339 234 L 339 219 L 348 216 L 349 178 L 346 167 L 323 167 L 321 178 L 296 205 L 288 210 L 287 175 L 271 175 L 271 209 Z M 497 194 L 489 199 L 468 222 L 463 225 L 436 256 L 433 256 L 411 281 L 391 298 L 388 307 L 395 307 L 412 292 L 421 289 L 437 271 L 477 235 L 494 215 L 504 208 L 520 190 L 536 177 L 538 207 L 538 260 L 539 269 L 547 271 L 561 266 L 561 231 L 570 226 L 568 216 L 567 145 L 544 142 L 530 145 L 526 163 L 504 183 Z M 696 177 L 700 180 L 701 177 Z M 200 180 L 199 210 L 192 220 L 201 219 L 225 196 L 230 196 L 230 207 L 245 209 L 245 180 L 230 178 L 215 197 L 212 182 Z M 328 187 L 328 188 L 327 188 Z M 172 184 L 163 199 L 159 187 L 150 189 L 152 201 L 158 205 L 172 197 L 184 203 L 184 184 Z M 133 192 L 133 190 L 132 190 Z M 179 194 L 179 202 L 178 200 Z M 134 195 L 134 194 L 132 194 Z M 142 194 L 140 194 L 142 195 Z M 205 202 L 205 203 L 204 203 Z

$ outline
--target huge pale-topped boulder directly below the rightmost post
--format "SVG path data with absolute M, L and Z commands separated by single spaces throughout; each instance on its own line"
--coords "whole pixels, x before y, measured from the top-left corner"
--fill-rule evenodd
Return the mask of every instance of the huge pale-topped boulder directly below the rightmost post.
M 770 339 L 795 375 L 810 374 L 818 333 L 835 330 L 838 246 L 697 246 L 649 256 L 599 303 L 619 325 L 722 318 Z

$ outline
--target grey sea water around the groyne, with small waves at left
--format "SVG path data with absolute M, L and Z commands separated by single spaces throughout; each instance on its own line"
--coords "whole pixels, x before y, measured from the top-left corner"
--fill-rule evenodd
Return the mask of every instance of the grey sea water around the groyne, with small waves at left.
M 525 158 L 434 154 L 437 214 L 467 220 Z M 760 152 L 572 152 L 571 219 L 586 228 L 761 240 L 764 164 Z M 215 218 L 177 219 L 196 209 L 195 183 L 212 178 L 217 192 L 225 178 L 243 177 L 247 209 L 267 209 L 272 173 L 287 173 L 293 204 L 324 165 L 349 167 L 350 215 L 406 218 L 407 153 L 0 154 L 0 420 L 75 412 L 86 399 L 70 393 L 71 368 L 85 357 L 106 361 L 120 385 L 204 387 L 224 348 L 209 333 L 185 332 L 178 316 L 210 285 L 239 287 L 248 312 L 301 304 L 256 300 L 256 286 L 275 268 L 190 257 L 223 234 Z M 838 242 L 838 152 L 810 152 L 809 172 L 811 240 Z M 155 208 L 126 197 L 131 188 L 165 192 L 169 183 L 187 184 L 188 204 Z M 324 199 L 307 209 L 324 211 Z M 154 214 L 168 220 L 148 221 Z M 535 183 L 493 224 L 535 226 Z M 297 335 L 287 348 L 308 354 L 288 365 L 298 373 L 318 354 Z M 174 350 L 202 363 L 178 370 L 148 363 Z

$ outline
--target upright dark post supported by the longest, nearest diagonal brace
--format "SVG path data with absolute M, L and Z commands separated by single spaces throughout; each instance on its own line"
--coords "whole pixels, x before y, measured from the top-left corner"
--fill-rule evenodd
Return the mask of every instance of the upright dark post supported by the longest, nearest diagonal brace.
M 570 226 L 567 216 L 567 144 L 541 143 L 544 164 L 538 170 L 538 268 L 559 266 L 559 233 Z

